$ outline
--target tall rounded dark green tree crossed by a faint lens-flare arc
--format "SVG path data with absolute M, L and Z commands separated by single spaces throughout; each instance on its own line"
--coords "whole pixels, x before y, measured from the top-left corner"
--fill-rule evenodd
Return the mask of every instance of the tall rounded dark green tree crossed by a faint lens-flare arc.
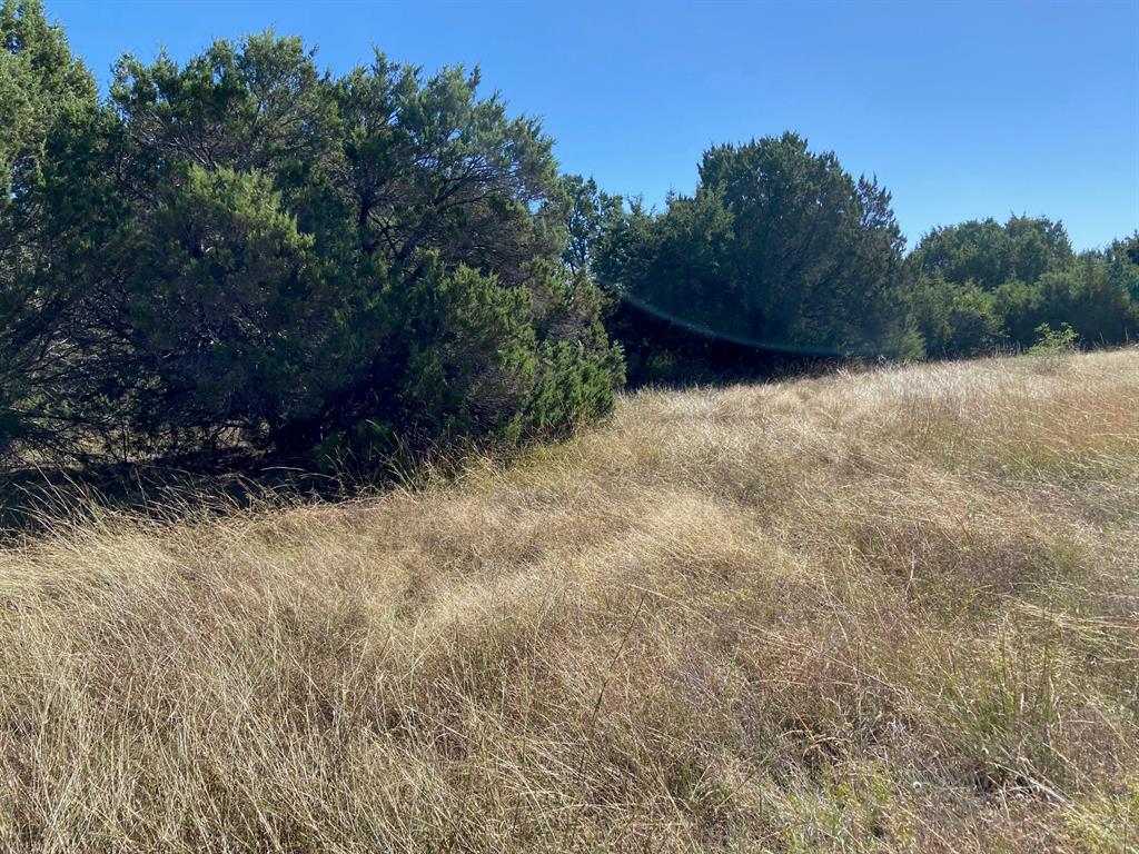
M 711 338 L 906 354 L 902 246 L 885 189 L 787 133 L 710 149 L 694 196 L 611 225 L 597 272 L 622 299 Z

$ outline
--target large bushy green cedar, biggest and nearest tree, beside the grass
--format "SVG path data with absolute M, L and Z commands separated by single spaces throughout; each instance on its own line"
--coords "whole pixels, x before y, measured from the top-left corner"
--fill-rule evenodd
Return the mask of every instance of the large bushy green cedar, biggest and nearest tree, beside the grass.
M 477 88 L 380 55 L 334 79 L 271 33 L 124 57 L 42 182 L 69 190 L 36 223 L 74 262 L 59 451 L 370 467 L 606 412 L 551 141 Z

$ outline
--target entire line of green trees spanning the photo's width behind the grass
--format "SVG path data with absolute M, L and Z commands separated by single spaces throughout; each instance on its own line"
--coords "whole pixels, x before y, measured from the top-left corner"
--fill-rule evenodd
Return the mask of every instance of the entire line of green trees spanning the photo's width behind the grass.
M 795 134 L 646 210 L 564 175 L 478 73 L 334 75 L 300 39 L 123 57 L 109 95 L 35 0 L 0 7 L 0 461 L 556 437 L 631 379 L 744 353 L 894 359 L 1139 328 L 1139 236 L 936 229 Z M 666 332 L 662 332 L 666 330 Z M 704 348 L 702 351 L 702 347 Z

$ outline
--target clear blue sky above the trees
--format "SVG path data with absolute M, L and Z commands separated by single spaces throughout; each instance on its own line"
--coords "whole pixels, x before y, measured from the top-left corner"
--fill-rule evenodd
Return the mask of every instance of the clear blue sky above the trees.
M 345 71 L 478 65 L 571 172 L 661 204 L 711 143 L 796 130 L 894 194 L 910 245 L 1010 212 L 1077 248 L 1139 228 L 1139 0 L 1109 2 L 76 2 L 47 0 L 106 83 L 274 26 Z

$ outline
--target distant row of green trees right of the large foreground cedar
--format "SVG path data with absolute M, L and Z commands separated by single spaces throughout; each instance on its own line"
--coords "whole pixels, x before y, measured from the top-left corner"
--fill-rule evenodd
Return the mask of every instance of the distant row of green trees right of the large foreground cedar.
M 1139 232 L 1077 254 L 1063 223 L 1013 215 L 933 229 L 906 254 L 890 192 L 795 133 L 713 147 L 663 212 L 574 187 L 633 379 L 714 375 L 723 342 L 737 362 L 906 360 L 1139 332 Z

